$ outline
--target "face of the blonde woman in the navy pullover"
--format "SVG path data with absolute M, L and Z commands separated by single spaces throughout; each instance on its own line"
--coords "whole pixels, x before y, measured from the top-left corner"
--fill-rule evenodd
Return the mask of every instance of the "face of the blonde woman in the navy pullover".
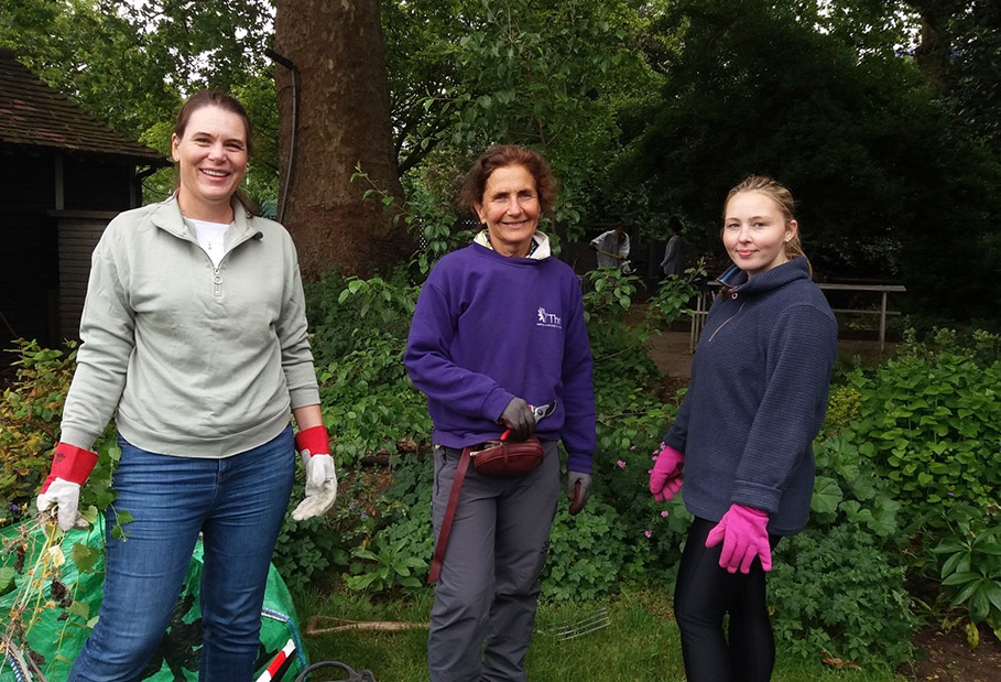
M 785 243 L 796 235 L 779 204 L 761 192 L 738 192 L 727 202 L 723 246 L 733 264 L 748 277 L 788 261 Z

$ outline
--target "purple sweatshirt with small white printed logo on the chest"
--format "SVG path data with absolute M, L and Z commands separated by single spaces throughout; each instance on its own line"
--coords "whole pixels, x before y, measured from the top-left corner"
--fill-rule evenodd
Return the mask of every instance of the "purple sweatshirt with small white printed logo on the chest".
M 570 470 L 590 473 L 595 389 L 577 277 L 555 259 L 509 258 L 472 243 L 445 256 L 421 291 L 404 356 L 427 396 L 434 442 L 497 439 L 512 398 L 556 412 L 542 440 L 562 439 Z

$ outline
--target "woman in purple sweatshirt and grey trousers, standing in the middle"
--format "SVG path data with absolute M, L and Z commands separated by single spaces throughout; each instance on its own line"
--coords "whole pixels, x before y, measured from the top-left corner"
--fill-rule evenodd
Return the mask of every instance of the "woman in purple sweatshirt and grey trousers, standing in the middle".
M 568 453 L 567 494 L 577 490 L 580 505 L 590 489 L 595 396 L 580 286 L 536 231 L 555 194 L 540 154 L 487 150 L 461 194 L 483 230 L 438 262 L 414 311 L 405 362 L 434 421 L 435 538 L 465 447 L 508 427 L 513 440 L 534 432 L 545 450 L 518 478 L 466 474 L 431 614 L 432 682 L 526 679 L 559 496 L 557 440 Z M 530 405 L 554 401 L 536 424 Z

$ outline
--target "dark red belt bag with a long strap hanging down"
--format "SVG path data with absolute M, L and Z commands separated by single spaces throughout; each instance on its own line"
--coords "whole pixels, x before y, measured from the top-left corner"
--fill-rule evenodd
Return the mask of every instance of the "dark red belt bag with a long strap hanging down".
M 463 450 L 463 454 L 459 455 L 459 465 L 455 470 L 451 492 L 448 494 L 448 505 L 445 507 L 442 531 L 438 533 L 438 542 L 435 544 L 435 555 L 431 561 L 431 574 L 427 576 L 428 584 L 437 583 L 438 575 L 442 573 L 445 548 L 448 546 L 448 533 L 451 532 L 451 520 L 455 518 L 455 508 L 459 504 L 459 492 L 463 490 L 463 481 L 466 480 L 469 462 L 472 462 L 476 470 L 483 476 L 518 478 L 537 469 L 538 465 L 542 464 L 543 457 L 545 457 L 545 450 L 534 435 L 529 436 L 527 441 L 488 441 L 487 443 Z

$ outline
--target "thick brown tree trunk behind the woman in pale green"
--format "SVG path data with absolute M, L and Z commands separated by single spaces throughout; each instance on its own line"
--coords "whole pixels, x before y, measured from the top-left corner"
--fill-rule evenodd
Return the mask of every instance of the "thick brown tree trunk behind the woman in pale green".
M 292 72 L 275 65 L 281 118 L 282 221 L 295 238 L 303 278 L 330 266 L 359 277 L 392 267 L 413 242 L 393 224 L 371 184 L 351 182 L 360 164 L 380 191 L 403 198 L 393 150 L 379 0 L 276 0 L 275 51 L 300 73 L 294 159 Z

